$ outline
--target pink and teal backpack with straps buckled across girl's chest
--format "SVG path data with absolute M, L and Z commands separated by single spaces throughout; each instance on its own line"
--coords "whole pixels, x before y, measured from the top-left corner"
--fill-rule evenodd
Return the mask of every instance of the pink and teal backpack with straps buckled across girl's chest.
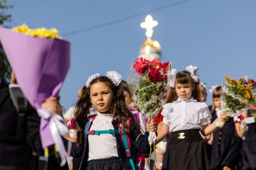
M 130 147 L 130 138 L 124 132 L 124 128 L 118 126 L 118 130 L 109 129 L 109 130 L 90 130 L 91 124 L 96 119 L 97 114 L 90 116 L 90 120 L 88 119 L 85 125 L 85 137 L 86 135 L 100 135 L 100 134 L 114 134 L 121 136 L 121 145 L 126 154 L 126 157 L 129 159 L 130 167 L 132 170 L 144 170 L 145 166 L 145 157 L 144 154 L 139 153 L 135 149 Z M 127 120 L 128 125 L 130 125 L 130 119 Z M 131 151 L 132 150 L 132 151 Z

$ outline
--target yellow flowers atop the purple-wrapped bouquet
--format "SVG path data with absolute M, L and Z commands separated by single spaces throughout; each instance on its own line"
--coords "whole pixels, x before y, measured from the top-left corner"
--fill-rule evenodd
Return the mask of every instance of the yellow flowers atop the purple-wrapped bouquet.
M 29 29 L 28 26 L 24 23 L 21 26 L 17 26 L 16 28 L 13 28 L 13 31 L 20 32 L 20 33 L 27 34 L 27 35 L 32 35 L 34 37 L 61 39 L 61 37 L 58 35 L 58 30 L 55 28 Z

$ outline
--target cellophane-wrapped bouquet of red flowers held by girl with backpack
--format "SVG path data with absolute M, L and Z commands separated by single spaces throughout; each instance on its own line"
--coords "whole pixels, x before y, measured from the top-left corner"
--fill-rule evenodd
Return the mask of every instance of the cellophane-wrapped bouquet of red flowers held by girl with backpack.
M 128 84 L 137 107 L 147 118 L 156 116 L 163 105 L 170 69 L 169 62 L 161 63 L 156 59 L 150 61 L 142 57 L 133 64 L 135 74 L 130 73 Z M 155 141 L 156 133 L 150 132 L 149 144 L 155 144 Z

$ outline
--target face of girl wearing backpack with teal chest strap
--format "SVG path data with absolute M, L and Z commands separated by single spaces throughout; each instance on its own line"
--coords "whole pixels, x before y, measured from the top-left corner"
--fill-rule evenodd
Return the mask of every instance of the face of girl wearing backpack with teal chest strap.
M 111 88 L 102 81 L 91 85 L 90 88 L 91 104 L 99 112 L 108 111 L 113 101 L 113 92 Z

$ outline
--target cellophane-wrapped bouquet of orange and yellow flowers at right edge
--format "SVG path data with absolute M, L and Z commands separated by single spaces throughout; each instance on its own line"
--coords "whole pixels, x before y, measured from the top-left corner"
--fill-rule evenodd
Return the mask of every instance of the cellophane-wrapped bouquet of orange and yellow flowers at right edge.
M 239 116 L 256 102 L 256 83 L 252 79 L 240 78 L 238 81 L 224 76 L 222 85 L 221 110 L 231 117 Z

